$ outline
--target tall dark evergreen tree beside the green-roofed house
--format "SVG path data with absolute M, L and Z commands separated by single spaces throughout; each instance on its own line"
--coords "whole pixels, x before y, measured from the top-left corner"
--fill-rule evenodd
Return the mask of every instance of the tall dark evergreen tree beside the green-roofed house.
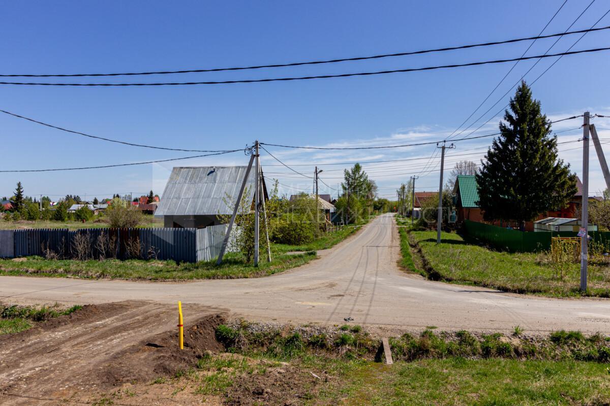
M 576 194 L 576 175 L 558 158 L 557 138 L 539 100 L 522 82 L 500 122 L 500 136 L 476 173 L 479 206 L 486 220 L 526 221 L 564 208 Z

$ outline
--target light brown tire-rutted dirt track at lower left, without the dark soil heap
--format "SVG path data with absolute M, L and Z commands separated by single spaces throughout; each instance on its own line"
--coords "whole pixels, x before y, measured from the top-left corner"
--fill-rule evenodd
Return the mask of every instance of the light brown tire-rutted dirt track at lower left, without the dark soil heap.
M 185 304 L 184 313 L 186 324 L 215 315 L 218 310 Z M 121 369 L 115 370 L 112 366 L 120 365 L 121 359 L 135 359 L 135 355 L 130 354 L 145 347 L 147 340 L 152 343 L 164 340 L 161 347 L 167 346 L 168 349 L 173 346 L 175 340 L 167 342 L 167 337 L 160 336 L 168 333 L 177 336 L 177 318 L 174 306 L 127 301 L 85 306 L 70 316 L 50 320 L 30 331 L 2 337 L 0 404 L 35 404 L 31 399 L 11 396 L 13 394 L 27 393 L 42 399 L 79 385 L 95 388 L 113 379 L 120 380 Z M 213 338 L 213 332 L 208 332 L 208 335 Z M 146 355 L 138 354 L 139 358 L 136 357 L 142 360 L 142 365 L 146 362 Z M 127 373 L 128 367 L 121 365 Z M 104 376 L 109 371 L 110 376 Z M 117 376 L 112 376 L 113 371 Z

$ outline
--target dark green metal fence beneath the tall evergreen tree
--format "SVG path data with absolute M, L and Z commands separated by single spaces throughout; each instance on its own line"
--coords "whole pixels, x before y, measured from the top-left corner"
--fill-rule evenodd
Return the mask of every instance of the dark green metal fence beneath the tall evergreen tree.
M 492 226 L 489 224 L 464 220 L 466 234 L 483 240 L 498 250 L 511 252 L 533 252 L 550 250 L 551 237 L 576 237 L 576 233 L 561 231 L 519 231 Z M 606 247 L 610 245 L 610 232 L 589 231 L 592 241 L 600 242 Z

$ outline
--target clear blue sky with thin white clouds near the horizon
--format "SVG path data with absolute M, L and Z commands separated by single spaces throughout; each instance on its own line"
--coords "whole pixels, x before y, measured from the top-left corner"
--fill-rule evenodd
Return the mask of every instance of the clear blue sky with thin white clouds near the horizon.
M 559 9 L 558 1 L 437 2 L 9 2 L 0 15 L 0 72 L 74 73 L 158 69 L 217 68 L 285 63 L 320 58 L 412 51 L 537 35 Z M 568 0 L 545 33 L 562 32 L 589 4 Z M 589 28 L 610 8 L 597 0 L 573 25 Z M 610 15 L 598 26 L 610 25 Z M 563 52 L 578 36 L 562 38 L 550 53 Z M 573 50 L 608 46 L 610 32 L 589 33 Z M 544 54 L 554 39 L 539 40 L 528 55 Z M 383 60 L 336 63 L 243 72 L 110 77 L 106 82 L 158 80 L 231 80 L 401 69 L 519 57 L 529 42 Z M 554 58 L 525 77 L 533 81 Z M 497 131 L 494 113 L 508 103 L 501 96 L 534 64 L 522 61 L 470 122 L 500 100 L 462 136 L 491 120 L 473 135 Z M 50 124 L 129 142 L 184 149 L 236 149 L 263 142 L 293 145 L 392 145 L 437 141 L 447 137 L 483 101 L 512 64 L 397 73 L 371 77 L 214 86 L 142 88 L 69 88 L 1 86 L 0 108 Z M 534 96 L 548 116 L 592 113 L 610 115 L 610 52 L 562 58 L 534 85 Z M 48 79 L 49 82 L 59 81 Z M 63 80 L 64 82 L 70 79 Z M 94 82 L 81 78 L 76 82 Z M 512 94 L 512 91 L 509 93 Z M 595 119 L 601 138 L 610 139 L 609 119 Z M 554 125 L 577 128 L 580 119 Z M 189 153 L 141 149 L 71 135 L 0 114 L 0 169 L 47 169 L 96 166 L 178 158 Z M 573 141 L 582 130 L 559 134 Z M 415 141 L 417 140 L 417 141 Z M 478 161 L 490 139 L 462 141 L 448 152 L 446 168 L 462 158 Z M 560 145 L 561 157 L 580 175 L 578 144 Z M 478 149 L 475 149 L 478 148 Z M 610 147 L 605 145 L 606 152 Z M 422 172 L 434 146 L 388 150 L 307 152 L 270 149 L 308 175 L 314 165 L 345 161 L 415 159 L 369 164 L 381 195 L 395 193 L 401 181 Z M 456 155 L 451 157 L 450 154 Z M 593 159 L 591 191 L 604 188 Z M 311 189 L 311 180 L 262 155 L 268 177 L 279 177 L 281 191 Z M 438 158 L 429 169 L 437 169 Z M 234 153 L 118 169 L 73 172 L 0 173 L 0 197 L 21 181 L 28 195 L 162 192 L 172 166 L 245 164 Z M 322 166 L 320 175 L 337 187 L 343 166 Z M 293 176 L 294 175 L 294 176 Z M 418 180 L 417 189 L 434 190 L 439 172 Z M 321 191 L 336 191 L 321 185 Z

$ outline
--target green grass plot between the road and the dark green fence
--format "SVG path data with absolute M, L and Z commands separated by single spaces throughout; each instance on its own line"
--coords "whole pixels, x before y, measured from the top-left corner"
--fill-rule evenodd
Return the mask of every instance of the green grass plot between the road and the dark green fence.
M 570 264 L 558 278 L 545 253 L 508 253 L 490 250 L 454 233 L 442 233 L 436 243 L 434 231 L 401 233 L 401 247 L 409 242 L 421 249 L 424 275 L 459 284 L 473 284 L 505 292 L 546 296 L 580 296 L 580 265 Z M 412 251 L 410 251 L 412 252 Z M 403 253 L 404 255 L 404 253 Z M 404 261 L 404 257 L 403 257 Z M 590 265 L 586 296 L 610 297 L 610 267 Z

